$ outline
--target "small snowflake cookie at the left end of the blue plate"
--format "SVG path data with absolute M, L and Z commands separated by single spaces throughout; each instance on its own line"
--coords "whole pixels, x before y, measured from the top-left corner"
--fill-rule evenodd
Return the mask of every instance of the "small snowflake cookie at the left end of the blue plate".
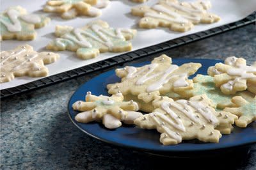
M 132 100 L 124 102 L 122 93 L 116 93 L 111 97 L 92 95 L 89 91 L 86 101 L 77 101 L 72 105 L 76 111 L 83 111 L 76 115 L 75 119 L 81 123 L 91 121 L 102 121 L 106 128 L 118 128 L 122 125 L 121 121 L 133 124 L 134 120 L 142 114 L 138 111 L 139 107 Z

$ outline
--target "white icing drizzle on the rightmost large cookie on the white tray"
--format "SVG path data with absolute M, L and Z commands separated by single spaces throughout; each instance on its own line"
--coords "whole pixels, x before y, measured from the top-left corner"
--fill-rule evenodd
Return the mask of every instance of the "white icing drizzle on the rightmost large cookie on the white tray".
M 152 10 L 154 11 L 145 12 L 144 17 L 163 19 L 179 24 L 186 24 L 189 22 L 189 20 L 195 20 L 196 22 L 199 22 L 201 19 L 201 14 L 205 13 L 205 10 L 211 6 L 209 1 L 188 4 L 190 7 L 184 6 L 180 3 L 166 1 L 164 3 L 152 6 Z M 164 15 L 161 13 L 164 13 Z

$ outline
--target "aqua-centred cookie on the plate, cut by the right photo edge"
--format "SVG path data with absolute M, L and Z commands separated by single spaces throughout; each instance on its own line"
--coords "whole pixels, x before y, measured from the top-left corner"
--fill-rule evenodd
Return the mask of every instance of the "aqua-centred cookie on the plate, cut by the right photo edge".
M 239 116 L 236 120 L 237 127 L 245 128 L 256 120 L 256 97 L 251 102 L 247 102 L 243 97 L 233 97 L 234 107 L 226 107 L 224 111 L 231 112 Z

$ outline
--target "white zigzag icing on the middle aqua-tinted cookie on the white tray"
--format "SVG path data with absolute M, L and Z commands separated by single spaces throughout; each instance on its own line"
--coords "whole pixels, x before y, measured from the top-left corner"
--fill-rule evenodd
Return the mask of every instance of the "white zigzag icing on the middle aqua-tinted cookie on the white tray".
M 111 42 L 110 37 L 118 38 L 118 39 L 124 39 L 124 36 L 122 35 L 122 32 L 128 32 L 132 33 L 131 29 L 116 29 L 115 33 L 111 33 L 102 26 L 99 26 L 98 24 L 92 24 L 90 26 L 93 32 L 95 32 L 98 36 L 94 35 L 92 31 L 86 31 L 80 28 L 75 28 L 72 30 L 72 33 L 65 34 L 61 36 L 61 38 L 56 39 L 56 44 L 65 47 L 65 40 L 68 40 L 70 44 L 72 42 L 77 43 L 81 47 L 85 48 L 92 48 L 92 43 L 90 41 L 86 40 L 86 36 L 92 38 L 93 40 L 102 43 L 103 45 L 106 45 L 109 49 L 112 49 L 113 43 Z M 65 38 L 65 40 L 63 40 Z M 71 41 L 71 42 L 70 42 Z

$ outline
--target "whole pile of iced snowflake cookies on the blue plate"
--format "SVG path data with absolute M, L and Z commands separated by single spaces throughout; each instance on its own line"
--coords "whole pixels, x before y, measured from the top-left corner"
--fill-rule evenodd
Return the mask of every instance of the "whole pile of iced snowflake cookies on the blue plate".
M 149 65 L 118 68 L 121 81 L 107 86 L 112 96 L 88 92 L 85 102 L 73 105 L 83 111 L 76 120 L 102 121 L 106 128 L 123 121 L 134 123 L 133 128 L 156 129 L 164 145 L 189 139 L 218 143 L 234 124 L 246 128 L 256 120 L 256 62 L 248 66 L 243 58 L 230 57 L 209 67 L 209 75 L 189 79 L 201 66 L 173 65 L 172 58 L 162 55 Z

